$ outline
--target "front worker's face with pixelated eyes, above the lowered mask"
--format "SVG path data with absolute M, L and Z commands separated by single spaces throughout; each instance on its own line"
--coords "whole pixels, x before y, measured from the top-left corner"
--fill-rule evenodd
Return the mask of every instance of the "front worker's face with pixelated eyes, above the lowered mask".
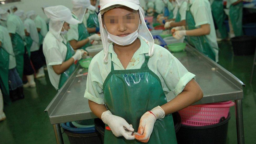
M 110 34 L 120 37 L 135 32 L 139 22 L 141 22 L 139 12 L 125 6 L 111 9 L 103 14 L 106 30 Z

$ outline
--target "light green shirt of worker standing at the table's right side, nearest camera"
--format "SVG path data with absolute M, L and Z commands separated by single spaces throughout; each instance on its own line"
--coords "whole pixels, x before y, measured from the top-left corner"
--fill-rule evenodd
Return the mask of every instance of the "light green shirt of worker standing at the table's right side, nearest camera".
M 210 45 L 214 47 L 216 53 L 216 61 L 218 61 L 218 43 L 216 38 L 216 32 L 214 27 L 214 22 L 211 13 L 211 5 L 209 0 L 190 0 L 192 5 L 190 11 L 195 20 L 195 26 L 200 27 L 204 24 L 209 24 L 211 31 L 209 35 L 206 35 L 206 38 L 210 42 Z

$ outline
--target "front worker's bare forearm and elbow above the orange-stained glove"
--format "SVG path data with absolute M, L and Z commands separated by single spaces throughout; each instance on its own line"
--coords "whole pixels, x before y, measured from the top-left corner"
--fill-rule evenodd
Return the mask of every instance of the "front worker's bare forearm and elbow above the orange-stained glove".
M 161 106 L 166 115 L 182 110 L 203 97 L 202 90 L 195 80 L 191 80 L 190 85 L 194 85 L 194 88 L 191 88 L 190 91 L 184 90 L 173 100 Z

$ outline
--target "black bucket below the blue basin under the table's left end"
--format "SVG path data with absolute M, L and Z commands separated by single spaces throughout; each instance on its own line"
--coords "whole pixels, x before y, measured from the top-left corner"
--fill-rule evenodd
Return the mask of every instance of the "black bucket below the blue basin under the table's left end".
M 81 143 L 101 144 L 101 138 L 97 132 L 88 133 L 88 134 L 76 134 L 66 129 L 64 129 L 64 132 L 67 134 L 70 144 L 81 144 Z

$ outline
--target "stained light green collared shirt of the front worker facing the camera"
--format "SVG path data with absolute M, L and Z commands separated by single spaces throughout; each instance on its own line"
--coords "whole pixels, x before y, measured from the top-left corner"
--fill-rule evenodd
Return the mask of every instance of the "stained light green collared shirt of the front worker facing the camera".
M 148 54 L 149 46 L 146 40 L 140 37 L 141 46 L 135 52 L 126 70 L 139 69 L 145 61 L 144 54 Z M 111 71 L 111 56 L 115 70 L 124 70 L 120 60 L 113 50 L 113 43 L 109 47 L 108 62 L 104 63 L 104 52 L 93 57 L 88 71 L 87 85 L 84 97 L 98 104 L 104 104 L 103 83 Z M 186 84 L 195 77 L 175 58 L 168 50 L 156 45 L 154 55 L 148 61 L 148 67 L 160 78 L 165 94 L 180 94 Z

